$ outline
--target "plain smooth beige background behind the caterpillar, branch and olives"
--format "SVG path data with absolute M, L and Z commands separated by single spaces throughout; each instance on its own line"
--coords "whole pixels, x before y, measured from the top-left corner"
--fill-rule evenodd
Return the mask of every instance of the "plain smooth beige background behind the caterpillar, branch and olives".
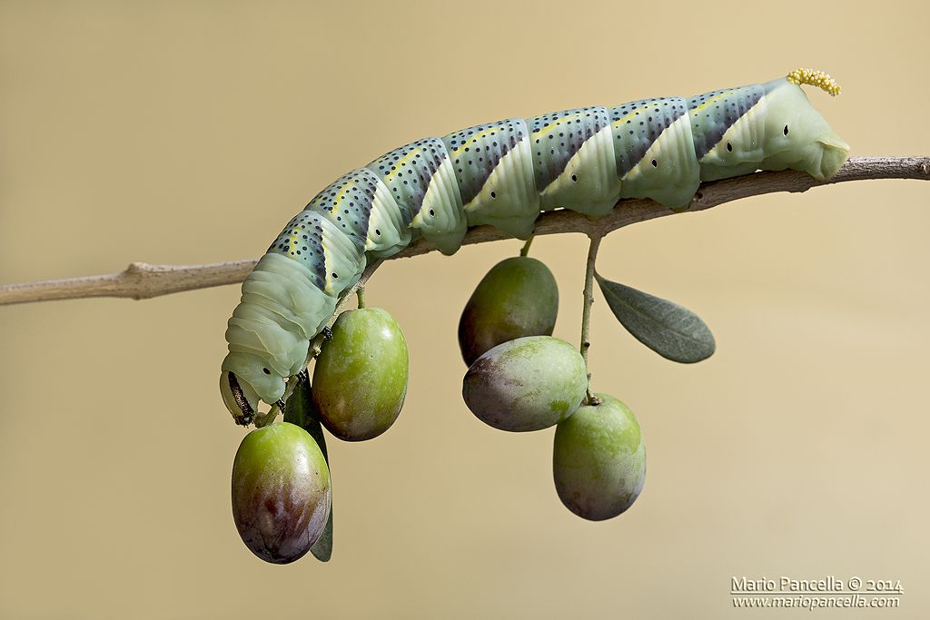
M 511 115 L 798 66 L 853 153 L 927 154 L 926 3 L 0 3 L 0 282 L 257 257 L 333 178 Z M 761 7 L 761 8 L 760 8 Z M 397 424 L 330 443 L 333 561 L 258 561 L 229 509 L 216 387 L 238 288 L 0 308 L 0 617 L 803 617 L 733 575 L 900 579 L 926 617 L 930 186 L 770 195 L 618 231 L 604 275 L 718 351 L 682 366 L 594 308 L 596 389 L 648 446 L 622 517 L 577 519 L 551 432 L 459 395 L 458 313 L 516 242 L 392 261 L 412 354 Z M 584 240 L 539 239 L 577 340 Z

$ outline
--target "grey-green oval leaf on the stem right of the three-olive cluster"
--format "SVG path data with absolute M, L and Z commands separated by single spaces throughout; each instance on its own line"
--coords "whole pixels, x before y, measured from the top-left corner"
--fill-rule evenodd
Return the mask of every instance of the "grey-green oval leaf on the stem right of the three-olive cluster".
M 707 324 L 691 310 L 595 273 L 597 284 L 618 321 L 637 340 L 672 362 L 695 363 L 711 357 L 716 344 Z

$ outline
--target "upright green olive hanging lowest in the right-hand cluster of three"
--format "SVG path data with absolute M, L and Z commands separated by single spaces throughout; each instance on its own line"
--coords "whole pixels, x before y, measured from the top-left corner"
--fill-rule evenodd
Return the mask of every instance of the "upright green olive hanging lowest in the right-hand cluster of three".
M 643 491 L 645 446 L 627 405 L 596 394 L 555 429 L 552 477 L 565 507 L 590 521 L 611 519 Z

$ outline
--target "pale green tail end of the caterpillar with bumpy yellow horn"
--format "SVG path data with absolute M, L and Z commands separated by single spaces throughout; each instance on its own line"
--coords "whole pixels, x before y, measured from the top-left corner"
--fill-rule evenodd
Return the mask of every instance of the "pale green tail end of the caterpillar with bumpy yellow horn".
M 766 90 L 764 169 L 803 170 L 817 180 L 836 174 L 849 145 L 811 105 L 801 85 L 819 86 L 838 95 L 840 86 L 822 72 L 799 69 L 770 82 Z

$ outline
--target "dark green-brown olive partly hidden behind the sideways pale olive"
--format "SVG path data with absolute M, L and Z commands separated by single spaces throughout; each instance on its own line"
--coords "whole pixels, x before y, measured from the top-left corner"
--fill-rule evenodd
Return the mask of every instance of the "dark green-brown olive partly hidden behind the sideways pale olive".
M 536 258 L 512 257 L 491 268 L 458 321 L 458 347 L 471 365 L 486 350 L 523 336 L 551 336 L 559 310 L 552 272 Z

